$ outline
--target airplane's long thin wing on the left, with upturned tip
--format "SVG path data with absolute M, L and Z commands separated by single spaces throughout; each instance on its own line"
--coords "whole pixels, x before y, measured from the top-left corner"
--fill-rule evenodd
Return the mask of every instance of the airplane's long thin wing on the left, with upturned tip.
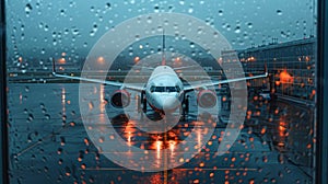
M 93 83 L 103 83 L 106 85 L 114 85 L 114 87 L 119 87 L 122 89 L 129 89 L 129 90 L 134 90 L 134 91 L 144 91 L 144 87 L 131 84 L 131 83 L 121 83 L 121 82 L 101 80 L 101 79 L 90 79 L 90 78 L 81 78 L 81 77 L 73 77 L 73 76 L 67 76 L 67 74 L 58 74 L 56 72 L 55 61 L 52 61 L 52 76 L 58 77 L 58 78 L 73 79 L 73 80 L 80 80 L 80 81 L 86 81 L 86 82 L 93 82 Z

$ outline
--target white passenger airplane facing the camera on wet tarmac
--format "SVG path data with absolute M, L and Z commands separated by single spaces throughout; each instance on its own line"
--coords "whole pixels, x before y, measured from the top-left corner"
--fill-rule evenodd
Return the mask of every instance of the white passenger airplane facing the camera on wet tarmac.
M 162 65 L 152 69 L 152 73 L 148 82 L 143 87 L 137 87 L 134 84 L 121 83 L 115 81 L 103 81 L 97 79 L 89 79 L 81 77 L 72 77 L 66 74 L 59 74 L 56 72 L 55 61 L 52 61 L 52 74 L 59 78 L 82 80 L 89 82 L 103 83 L 107 85 L 119 87 L 120 89 L 112 94 L 110 103 L 114 107 L 122 108 L 130 104 L 130 93 L 127 90 L 134 90 L 141 93 L 142 108 L 147 111 L 147 104 L 151 106 L 152 110 L 164 114 L 167 112 L 175 112 L 178 107 L 183 106 L 183 113 L 188 112 L 189 106 L 188 97 L 186 94 L 188 92 L 195 91 L 196 89 L 201 89 L 197 93 L 197 103 L 200 107 L 210 108 L 216 104 L 216 94 L 212 90 L 204 89 L 207 87 L 218 87 L 219 84 L 237 82 L 243 80 L 251 80 L 258 78 L 268 77 L 267 68 L 265 68 L 263 74 L 244 77 L 237 79 L 226 79 L 211 82 L 199 82 L 198 84 L 185 85 L 181 79 L 178 77 L 176 70 L 180 68 L 172 68 L 166 65 L 165 59 L 165 35 L 163 34 L 163 51 L 162 51 Z M 192 66 L 191 66 L 192 67 Z

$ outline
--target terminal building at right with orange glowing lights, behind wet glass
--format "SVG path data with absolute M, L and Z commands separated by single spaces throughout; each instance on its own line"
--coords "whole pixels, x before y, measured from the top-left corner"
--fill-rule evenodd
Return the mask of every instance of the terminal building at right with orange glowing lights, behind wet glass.
M 270 44 L 242 50 L 222 51 L 223 62 L 237 55 L 245 73 L 262 72 L 267 66 L 269 77 L 249 81 L 249 87 L 270 89 L 278 97 L 313 103 L 316 77 L 315 38 Z

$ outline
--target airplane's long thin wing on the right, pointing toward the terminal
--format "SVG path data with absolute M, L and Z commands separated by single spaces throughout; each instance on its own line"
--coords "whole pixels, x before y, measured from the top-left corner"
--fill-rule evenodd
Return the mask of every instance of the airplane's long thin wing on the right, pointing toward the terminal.
M 251 80 L 251 79 L 258 79 L 258 78 L 266 78 L 268 77 L 268 72 L 266 71 L 266 73 L 263 74 L 259 74 L 259 76 L 253 76 L 253 77 L 245 77 L 245 78 L 236 78 L 236 79 L 226 79 L 226 80 L 220 80 L 220 81 L 211 81 L 211 82 L 197 82 L 197 83 L 192 83 L 191 85 L 187 85 L 184 88 L 185 92 L 189 92 L 189 91 L 194 91 L 195 89 L 198 88 L 203 88 L 203 87 L 213 87 L 213 85 L 219 85 L 222 83 L 231 83 L 231 82 L 238 82 L 238 81 L 243 81 L 243 80 Z

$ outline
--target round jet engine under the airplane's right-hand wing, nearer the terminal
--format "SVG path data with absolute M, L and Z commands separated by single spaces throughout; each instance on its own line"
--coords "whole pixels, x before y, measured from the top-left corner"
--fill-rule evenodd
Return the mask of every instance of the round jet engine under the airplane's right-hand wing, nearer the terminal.
M 197 103 L 200 107 L 211 108 L 216 105 L 216 95 L 212 90 L 201 90 L 197 95 Z

